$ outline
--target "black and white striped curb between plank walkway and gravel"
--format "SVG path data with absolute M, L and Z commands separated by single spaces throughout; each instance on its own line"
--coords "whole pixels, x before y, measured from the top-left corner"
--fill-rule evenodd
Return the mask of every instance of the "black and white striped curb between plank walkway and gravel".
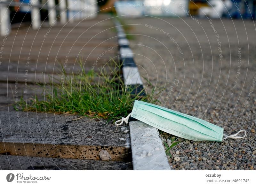
M 138 94 L 143 89 L 139 69 L 134 62 L 133 52 L 120 22 L 115 20 L 120 53 L 120 63 L 125 86 Z M 142 92 L 141 95 L 145 94 Z M 134 170 L 170 170 L 162 140 L 157 128 L 138 120 L 129 122 L 132 165 Z

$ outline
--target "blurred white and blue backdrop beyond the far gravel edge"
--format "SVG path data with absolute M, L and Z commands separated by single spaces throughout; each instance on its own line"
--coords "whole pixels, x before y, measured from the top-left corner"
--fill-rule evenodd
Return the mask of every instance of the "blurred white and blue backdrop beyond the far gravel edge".
M 254 19 L 256 6 L 255 0 L 138 0 L 115 2 L 118 14 L 136 12 L 142 15 L 155 16 L 207 16 L 209 18 L 237 19 Z

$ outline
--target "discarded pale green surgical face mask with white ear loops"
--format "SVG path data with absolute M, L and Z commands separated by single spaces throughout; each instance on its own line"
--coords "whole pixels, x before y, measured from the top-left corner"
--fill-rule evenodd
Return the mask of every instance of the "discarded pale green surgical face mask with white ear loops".
M 123 122 L 127 124 L 130 116 L 174 136 L 193 141 L 222 142 L 227 138 L 239 139 L 246 136 L 245 130 L 228 136 L 223 134 L 223 128 L 207 121 L 138 100 L 134 102 L 132 113 L 116 121 L 116 126 Z M 237 136 L 240 132 L 244 132 L 244 136 Z

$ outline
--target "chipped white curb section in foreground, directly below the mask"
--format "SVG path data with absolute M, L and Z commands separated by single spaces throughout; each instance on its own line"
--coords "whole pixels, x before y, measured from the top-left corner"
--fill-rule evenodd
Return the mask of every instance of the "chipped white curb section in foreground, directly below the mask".
M 171 170 L 157 128 L 130 121 L 133 170 Z

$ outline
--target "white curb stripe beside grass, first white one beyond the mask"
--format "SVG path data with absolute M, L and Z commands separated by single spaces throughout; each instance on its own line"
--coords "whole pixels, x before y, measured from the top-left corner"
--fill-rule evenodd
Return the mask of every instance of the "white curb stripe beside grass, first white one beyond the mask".
M 123 74 L 125 85 L 143 85 L 138 67 L 124 66 Z

